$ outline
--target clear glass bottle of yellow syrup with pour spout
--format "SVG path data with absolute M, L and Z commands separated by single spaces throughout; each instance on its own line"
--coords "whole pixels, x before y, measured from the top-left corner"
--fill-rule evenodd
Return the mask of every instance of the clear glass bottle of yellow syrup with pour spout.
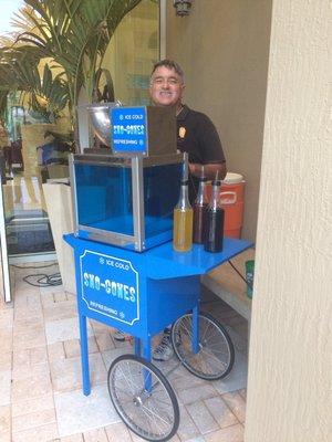
M 193 209 L 188 198 L 188 180 L 181 181 L 180 196 L 174 209 L 173 249 L 188 252 L 193 246 Z

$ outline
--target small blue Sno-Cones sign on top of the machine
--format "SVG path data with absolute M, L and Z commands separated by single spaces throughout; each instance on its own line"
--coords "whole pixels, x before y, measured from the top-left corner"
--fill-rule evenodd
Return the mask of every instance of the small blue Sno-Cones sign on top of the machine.
M 113 150 L 146 154 L 146 107 L 113 107 L 110 112 Z

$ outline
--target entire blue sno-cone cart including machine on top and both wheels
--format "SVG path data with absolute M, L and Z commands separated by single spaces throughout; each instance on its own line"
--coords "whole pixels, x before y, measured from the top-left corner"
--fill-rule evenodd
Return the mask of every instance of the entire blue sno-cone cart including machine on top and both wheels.
M 175 116 L 167 108 L 105 112 L 112 114 L 112 155 L 89 150 L 70 162 L 75 231 L 64 240 L 74 251 L 83 393 L 91 391 L 91 318 L 134 338 L 135 352 L 120 356 L 108 369 L 115 410 L 141 438 L 166 441 L 178 429 L 179 407 L 166 376 L 151 361 L 152 338 L 173 325 L 172 344 L 184 367 L 207 380 L 227 376 L 234 346 L 226 329 L 199 311 L 200 276 L 251 243 L 225 239 L 220 253 L 203 245 L 175 252 L 173 209 L 183 173 Z

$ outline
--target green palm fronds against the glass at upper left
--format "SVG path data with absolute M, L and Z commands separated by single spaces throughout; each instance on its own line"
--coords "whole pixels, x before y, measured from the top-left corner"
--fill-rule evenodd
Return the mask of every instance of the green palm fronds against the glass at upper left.
M 141 1 L 24 0 L 13 21 L 14 39 L 0 50 L 0 103 L 4 91 L 17 88 L 29 93 L 31 105 L 44 106 L 45 112 L 68 105 L 75 128 L 82 87 L 90 102 L 96 101 L 110 40 L 121 20 Z M 42 60 L 48 63 L 40 74 Z

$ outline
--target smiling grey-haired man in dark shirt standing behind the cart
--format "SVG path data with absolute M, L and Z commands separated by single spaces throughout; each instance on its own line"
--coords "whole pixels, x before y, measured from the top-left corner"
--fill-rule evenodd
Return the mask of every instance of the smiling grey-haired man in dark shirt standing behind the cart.
M 203 113 L 183 104 L 185 92 L 184 72 L 172 60 L 162 60 L 154 65 L 149 95 L 155 106 L 174 107 L 177 122 L 177 147 L 188 152 L 189 158 L 189 200 L 193 203 L 198 188 L 198 178 L 224 179 L 226 160 L 221 143 L 212 122 Z M 116 332 L 114 338 L 125 340 L 125 335 Z M 153 359 L 168 360 L 173 356 L 170 329 L 164 330 L 160 344 L 153 351 Z

